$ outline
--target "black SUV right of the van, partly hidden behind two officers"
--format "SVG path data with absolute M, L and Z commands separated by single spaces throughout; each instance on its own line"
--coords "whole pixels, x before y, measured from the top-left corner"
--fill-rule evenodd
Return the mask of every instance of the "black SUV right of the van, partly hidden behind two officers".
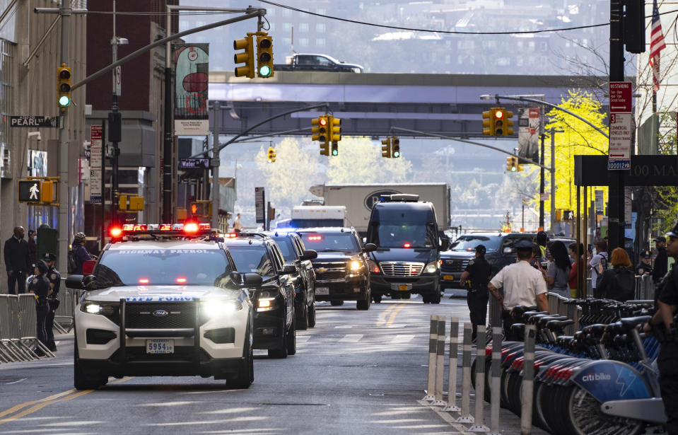
M 492 274 L 502 267 L 515 263 L 515 248 L 518 241 L 527 239 L 536 242 L 535 233 L 467 233 L 450 244 L 450 249 L 440 253 L 440 286 L 446 289 L 460 289 L 459 279 L 476 255 L 476 246 L 484 245 L 485 258 L 492 266 Z

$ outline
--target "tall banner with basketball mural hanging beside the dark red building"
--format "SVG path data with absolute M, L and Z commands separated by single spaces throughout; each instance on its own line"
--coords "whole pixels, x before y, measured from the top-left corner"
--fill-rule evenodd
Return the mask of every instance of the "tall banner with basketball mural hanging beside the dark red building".
M 174 134 L 205 136 L 209 133 L 209 44 L 174 45 L 174 64 Z

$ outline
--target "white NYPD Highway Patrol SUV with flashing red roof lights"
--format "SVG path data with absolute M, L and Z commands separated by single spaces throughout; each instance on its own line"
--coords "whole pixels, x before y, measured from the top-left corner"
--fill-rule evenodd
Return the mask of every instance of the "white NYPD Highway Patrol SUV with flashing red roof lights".
M 74 315 L 74 386 L 97 388 L 109 376 L 214 376 L 232 388 L 254 380 L 247 287 L 257 273 L 238 272 L 206 224 L 125 225 L 86 276 Z

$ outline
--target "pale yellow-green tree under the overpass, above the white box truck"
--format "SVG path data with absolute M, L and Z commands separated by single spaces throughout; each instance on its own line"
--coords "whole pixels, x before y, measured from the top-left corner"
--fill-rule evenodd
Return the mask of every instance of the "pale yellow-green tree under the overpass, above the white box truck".
M 407 158 L 382 158 L 381 145 L 365 137 L 345 137 L 339 142 L 339 156 L 329 157 L 327 182 L 407 182 L 412 163 Z

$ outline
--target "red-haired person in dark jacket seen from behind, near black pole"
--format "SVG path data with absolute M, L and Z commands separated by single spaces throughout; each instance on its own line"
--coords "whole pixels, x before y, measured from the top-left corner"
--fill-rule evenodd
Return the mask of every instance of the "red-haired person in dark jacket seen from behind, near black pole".
M 612 269 L 598 270 L 596 289 L 601 298 L 625 302 L 636 294 L 636 274 L 631 269 L 629 254 L 624 248 L 612 250 Z

